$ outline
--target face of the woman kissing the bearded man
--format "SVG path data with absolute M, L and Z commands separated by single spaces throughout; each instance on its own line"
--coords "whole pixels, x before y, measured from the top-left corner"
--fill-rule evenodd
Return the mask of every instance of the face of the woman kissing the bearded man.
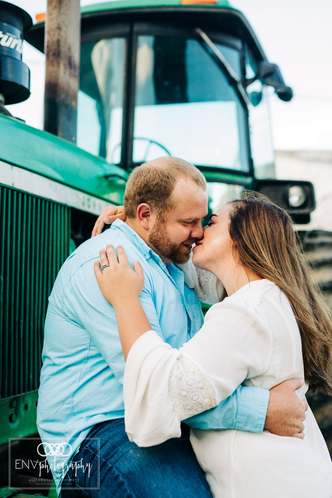
M 225 204 L 210 219 L 204 228 L 204 237 L 196 242 L 193 249 L 193 263 L 199 268 L 213 270 L 233 262 L 233 241 L 229 235 L 229 212 L 231 206 Z

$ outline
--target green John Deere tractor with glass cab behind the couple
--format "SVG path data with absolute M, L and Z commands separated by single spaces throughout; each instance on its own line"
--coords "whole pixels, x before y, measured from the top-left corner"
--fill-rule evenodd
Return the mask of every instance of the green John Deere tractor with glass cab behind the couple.
M 23 34 L 43 52 L 44 32 L 44 21 L 32 25 L 0 1 L 0 487 L 8 486 L 8 439 L 12 454 L 30 458 L 24 438 L 38 437 L 43 328 L 56 275 L 103 209 L 122 203 L 132 168 L 164 155 L 190 161 L 207 179 L 210 213 L 243 189 L 265 193 L 298 224 L 315 208 L 310 182 L 275 179 L 268 94 L 272 87 L 289 101 L 292 90 L 226 0 L 82 8 L 72 136 L 56 136 L 56 113 L 40 131 L 4 108 L 30 95 Z M 29 489 L 33 472 L 11 469 L 9 486 Z M 47 496 L 47 486 L 40 493 Z

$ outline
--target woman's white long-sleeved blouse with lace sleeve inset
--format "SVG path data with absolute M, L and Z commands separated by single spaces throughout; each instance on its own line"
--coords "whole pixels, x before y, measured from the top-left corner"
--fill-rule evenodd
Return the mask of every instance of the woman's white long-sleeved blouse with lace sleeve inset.
M 291 306 L 274 283 L 257 280 L 212 306 L 179 350 L 153 330 L 134 343 L 124 372 L 125 430 L 138 446 L 160 444 L 180 437 L 181 420 L 216 406 L 241 383 L 270 389 L 300 376 Z M 332 462 L 310 408 L 305 426 L 304 440 L 192 429 L 191 443 L 215 497 L 331 498 Z

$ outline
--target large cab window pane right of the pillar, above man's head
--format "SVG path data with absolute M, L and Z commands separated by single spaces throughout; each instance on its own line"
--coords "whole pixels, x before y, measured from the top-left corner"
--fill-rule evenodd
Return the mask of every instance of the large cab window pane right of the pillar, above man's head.
M 245 112 L 198 40 L 139 36 L 135 86 L 134 163 L 170 154 L 198 166 L 248 170 Z

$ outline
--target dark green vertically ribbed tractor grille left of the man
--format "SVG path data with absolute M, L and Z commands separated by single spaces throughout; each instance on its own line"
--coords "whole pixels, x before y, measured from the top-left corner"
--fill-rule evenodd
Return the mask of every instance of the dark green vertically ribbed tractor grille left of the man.
M 0 186 L 0 398 L 38 388 L 48 296 L 69 234 L 70 208 Z

